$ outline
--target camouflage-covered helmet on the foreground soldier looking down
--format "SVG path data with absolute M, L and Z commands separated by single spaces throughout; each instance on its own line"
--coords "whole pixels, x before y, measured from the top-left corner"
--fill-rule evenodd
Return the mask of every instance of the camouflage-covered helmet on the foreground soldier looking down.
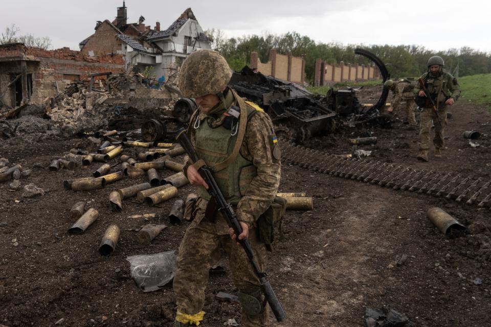
M 231 77 L 232 71 L 224 57 L 216 51 L 198 50 L 190 54 L 181 67 L 179 89 L 184 97 L 217 94 Z

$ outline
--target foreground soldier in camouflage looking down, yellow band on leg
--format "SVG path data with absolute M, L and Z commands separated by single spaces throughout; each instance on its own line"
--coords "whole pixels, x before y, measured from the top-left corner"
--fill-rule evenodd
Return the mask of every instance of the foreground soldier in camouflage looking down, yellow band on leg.
M 234 209 L 243 229 L 238 238 L 249 239 L 259 269 L 264 271 L 266 245 L 256 236 L 256 220 L 270 207 L 278 190 L 280 149 L 270 117 L 227 87 L 230 78 L 224 57 L 199 50 L 184 61 L 179 88 L 199 106 L 188 129 L 196 153 L 211 167 L 227 201 L 237 206 Z M 245 128 L 240 128 L 242 119 L 246 119 Z M 203 320 L 209 269 L 222 250 L 229 258 L 239 291 L 242 325 L 265 326 L 269 313 L 245 251 L 236 243 L 236 235 L 210 199 L 208 185 L 187 157 L 184 172 L 190 183 L 198 186 L 199 198 L 177 258 L 175 326 L 198 325 Z

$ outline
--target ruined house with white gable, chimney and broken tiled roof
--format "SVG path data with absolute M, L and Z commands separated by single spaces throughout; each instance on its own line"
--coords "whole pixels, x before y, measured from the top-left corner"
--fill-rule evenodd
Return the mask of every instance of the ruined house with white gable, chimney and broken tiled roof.
M 164 31 L 160 22 L 154 29 L 145 26 L 145 18 L 138 23 L 127 23 L 127 7 L 118 8 L 113 21 L 98 21 L 96 32 L 80 42 L 80 51 L 88 56 L 122 54 L 126 67 L 137 66 L 140 71 L 153 67 L 158 79 L 168 78 L 169 68 L 180 65 L 189 54 L 198 49 L 211 49 L 211 40 L 199 26 L 191 8 L 186 9 Z

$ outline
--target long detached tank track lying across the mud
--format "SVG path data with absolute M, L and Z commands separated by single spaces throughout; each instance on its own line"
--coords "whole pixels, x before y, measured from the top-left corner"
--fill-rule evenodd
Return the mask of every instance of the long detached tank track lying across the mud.
M 404 165 L 332 155 L 282 140 L 284 162 L 328 175 L 394 190 L 445 197 L 459 203 L 491 207 L 491 180 L 456 172 L 414 169 Z

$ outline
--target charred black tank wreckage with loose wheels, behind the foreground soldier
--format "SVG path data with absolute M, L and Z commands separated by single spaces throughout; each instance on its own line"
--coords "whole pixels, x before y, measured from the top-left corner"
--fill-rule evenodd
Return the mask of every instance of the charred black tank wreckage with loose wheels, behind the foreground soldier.
M 380 70 L 383 82 L 389 79 L 384 63 L 374 54 L 357 48 L 355 54 L 372 60 Z M 233 73 L 229 82 L 238 95 L 258 104 L 271 116 L 278 137 L 302 143 L 313 136 L 322 136 L 339 128 L 363 128 L 368 124 L 386 122 L 380 117 L 389 91 L 384 89 L 377 103 L 362 106 L 356 98 L 356 89 L 337 90 L 331 88 L 325 96 L 310 93 L 303 87 L 255 72 L 248 66 Z M 172 122 L 174 128 L 184 127 L 197 106 L 194 99 L 181 98 L 174 106 Z M 166 123 L 151 119 L 142 125 L 145 141 L 166 139 Z

